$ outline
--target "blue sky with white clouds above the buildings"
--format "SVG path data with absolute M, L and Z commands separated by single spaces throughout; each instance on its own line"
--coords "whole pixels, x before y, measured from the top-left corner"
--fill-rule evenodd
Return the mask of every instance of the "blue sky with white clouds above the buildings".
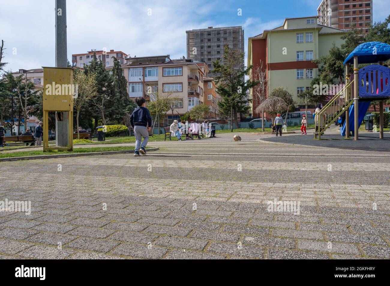
M 115 49 L 131 56 L 186 55 L 186 30 L 244 26 L 248 37 L 275 28 L 284 18 L 314 16 L 320 0 L 189 1 L 67 0 L 67 51 Z M 5 70 L 55 65 L 54 0 L 2 4 L 0 39 L 5 40 Z M 390 14 L 389 0 L 374 0 L 374 21 Z M 148 16 L 148 9 L 151 15 Z M 242 16 L 238 16 L 238 9 Z M 246 63 L 246 61 L 245 61 Z

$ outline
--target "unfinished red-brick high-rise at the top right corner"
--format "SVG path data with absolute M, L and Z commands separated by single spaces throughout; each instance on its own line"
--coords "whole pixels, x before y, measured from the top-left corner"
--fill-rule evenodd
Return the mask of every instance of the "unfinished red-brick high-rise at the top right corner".
M 343 30 L 355 26 L 360 35 L 372 26 L 372 0 L 322 0 L 317 12 L 320 25 Z

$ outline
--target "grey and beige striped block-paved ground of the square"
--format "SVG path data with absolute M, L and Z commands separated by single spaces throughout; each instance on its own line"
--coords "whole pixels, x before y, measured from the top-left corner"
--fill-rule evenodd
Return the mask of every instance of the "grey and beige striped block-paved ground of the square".
M 0 163 L 0 258 L 390 258 L 390 153 L 240 136 Z

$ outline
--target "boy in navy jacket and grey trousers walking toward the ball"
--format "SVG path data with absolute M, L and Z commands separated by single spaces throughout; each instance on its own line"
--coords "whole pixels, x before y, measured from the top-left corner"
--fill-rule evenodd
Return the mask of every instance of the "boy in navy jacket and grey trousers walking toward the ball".
M 135 136 L 134 156 L 140 156 L 140 153 L 146 155 L 145 147 L 149 140 L 150 126 L 152 126 L 152 117 L 149 109 L 145 107 L 145 102 L 146 100 L 143 97 L 135 98 L 135 103 L 138 107 L 134 109 L 130 116 L 130 124 L 134 129 Z M 141 144 L 142 137 L 144 137 L 144 141 Z

